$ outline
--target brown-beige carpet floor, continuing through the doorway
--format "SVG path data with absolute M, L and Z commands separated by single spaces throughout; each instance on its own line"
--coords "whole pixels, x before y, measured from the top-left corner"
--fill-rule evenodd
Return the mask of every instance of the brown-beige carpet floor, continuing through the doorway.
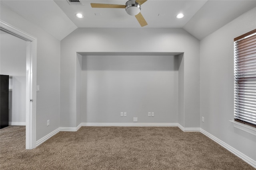
M 25 149 L 25 127 L 0 130 L 1 170 L 255 170 L 199 132 L 81 127 Z

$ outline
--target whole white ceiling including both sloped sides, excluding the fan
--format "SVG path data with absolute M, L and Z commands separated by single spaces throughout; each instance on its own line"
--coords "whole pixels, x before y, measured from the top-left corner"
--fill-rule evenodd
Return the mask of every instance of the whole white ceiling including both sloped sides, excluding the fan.
M 0 0 L 23 18 L 61 40 L 78 27 L 140 28 L 134 16 L 125 9 L 92 8 L 90 3 L 122 4 L 127 0 Z M 141 6 L 147 28 L 183 28 L 203 39 L 244 12 L 256 7 L 256 0 L 148 0 Z M 177 19 L 178 13 L 185 17 Z M 84 18 L 76 18 L 82 13 Z

